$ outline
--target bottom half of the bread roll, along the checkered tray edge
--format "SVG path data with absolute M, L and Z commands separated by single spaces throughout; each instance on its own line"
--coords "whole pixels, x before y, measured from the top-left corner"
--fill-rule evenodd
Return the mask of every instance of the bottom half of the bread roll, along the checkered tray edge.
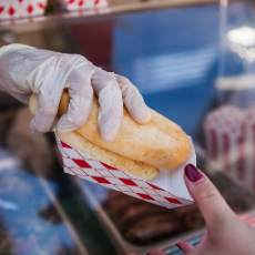
M 86 141 L 76 132 L 72 132 L 69 134 L 57 133 L 57 135 L 64 143 L 69 144 L 72 147 L 75 147 L 86 155 L 90 155 L 98 161 L 106 163 L 115 169 L 122 170 L 142 180 L 149 181 L 154 178 L 159 174 L 159 170 L 156 170 L 155 167 L 142 162 L 124 159 L 116 155 L 115 153 L 105 151 L 104 149 L 101 149 L 93 143 Z

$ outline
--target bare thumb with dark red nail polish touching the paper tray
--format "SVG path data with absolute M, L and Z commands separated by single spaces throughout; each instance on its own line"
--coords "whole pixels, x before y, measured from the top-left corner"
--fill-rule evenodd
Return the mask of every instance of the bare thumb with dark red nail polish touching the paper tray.
M 208 227 L 215 227 L 215 222 L 221 226 L 220 223 L 225 223 L 235 216 L 217 188 L 205 174 L 192 164 L 186 165 L 184 172 L 186 186 Z

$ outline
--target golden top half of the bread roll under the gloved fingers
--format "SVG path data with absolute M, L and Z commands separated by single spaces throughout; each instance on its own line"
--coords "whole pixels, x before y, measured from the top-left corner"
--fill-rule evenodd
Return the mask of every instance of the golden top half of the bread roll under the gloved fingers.
M 58 116 L 68 111 L 69 100 L 70 96 L 65 90 L 60 101 Z M 30 109 L 33 114 L 35 104 L 37 99 L 31 96 Z M 124 109 L 123 123 L 113 142 L 105 142 L 101 139 L 98 113 L 99 103 L 94 96 L 92 112 L 86 123 L 74 133 L 100 149 L 160 170 L 171 170 L 183 163 L 188 156 L 190 142 L 184 131 L 153 110 L 151 110 L 152 120 L 146 124 L 139 124 Z

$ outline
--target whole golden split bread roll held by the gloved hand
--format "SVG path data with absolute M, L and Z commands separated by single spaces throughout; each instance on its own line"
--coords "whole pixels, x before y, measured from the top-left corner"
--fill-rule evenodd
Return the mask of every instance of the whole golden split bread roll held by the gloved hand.
M 69 101 L 69 93 L 64 90 L 58 118 L 68 111 Z M 37 95 L 31 95 L 29 106 L 35 115 Z M 73 149 L 144 181 L 154 178 L 160 171 L 173 170 L 188 157 L 190 141 L 185 132 L 153 110 L 151 121 L 140 124 L 124 108 L 122 126 L 113 142 L 101 139 L 98 113 L 99 102 L 94 96 L 86 123 L 69 134 L 57 132 L 57 136 Z

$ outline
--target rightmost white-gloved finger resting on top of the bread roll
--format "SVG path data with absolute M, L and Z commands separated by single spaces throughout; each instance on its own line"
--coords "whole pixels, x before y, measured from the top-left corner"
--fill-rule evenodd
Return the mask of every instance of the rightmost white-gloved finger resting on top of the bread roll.
M 122 96 L 130 115 L 139 123 L 146 123 L 151 120 L 151 111 L 144 103 L 143 96 L 140 94 L 131 81 L 124 76 L 115 75 L 120 84 Z

